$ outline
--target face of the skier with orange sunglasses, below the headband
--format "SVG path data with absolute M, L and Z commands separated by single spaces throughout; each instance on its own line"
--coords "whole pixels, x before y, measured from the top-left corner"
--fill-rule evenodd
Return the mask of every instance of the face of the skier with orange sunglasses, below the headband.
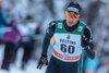
M 66 14 L 66 25 L 68 26 L 75 25 L 77 23 L 77 21 L 78 21 L 78 16 L 73 16 L 73 15 L 70 16 Z

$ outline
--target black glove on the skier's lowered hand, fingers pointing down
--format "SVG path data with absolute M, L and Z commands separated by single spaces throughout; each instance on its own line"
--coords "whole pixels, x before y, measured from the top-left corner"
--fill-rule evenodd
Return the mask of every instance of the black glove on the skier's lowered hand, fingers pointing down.
M 46 66 L 47 64 L 48 64 L 47 56 L 41 53 L 37 69 L 41 69 L 43 65 Z

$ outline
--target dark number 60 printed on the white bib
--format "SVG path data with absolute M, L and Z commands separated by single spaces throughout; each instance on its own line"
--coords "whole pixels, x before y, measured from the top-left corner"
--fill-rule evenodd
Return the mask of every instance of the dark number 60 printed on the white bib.
M 74 52 L 74 46 L 72 46 L 72 45 L 66 46 L 64 44 L 61 44 L 61 51 L 62 52 L 73 53 Z

